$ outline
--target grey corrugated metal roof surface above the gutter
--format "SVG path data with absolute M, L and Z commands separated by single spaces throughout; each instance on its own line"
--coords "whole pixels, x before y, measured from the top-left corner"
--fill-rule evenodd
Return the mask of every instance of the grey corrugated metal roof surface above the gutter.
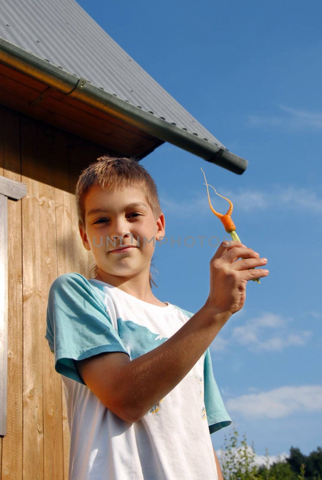
M 227 151 L 76 1 L 2 0 L 0 36 L 47 60 L 49 65 L 72 73 L 75 79 L 83 78 L 129 105 L 150 112 L 156 119 L 194 134 L 199 142 L 206 141 Z

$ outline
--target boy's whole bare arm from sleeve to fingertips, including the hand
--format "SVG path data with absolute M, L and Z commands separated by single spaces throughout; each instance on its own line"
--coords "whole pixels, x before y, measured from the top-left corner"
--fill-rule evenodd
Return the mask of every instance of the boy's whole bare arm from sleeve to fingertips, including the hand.
M 247 281 L 267 276 L 253 250 L 222 243 L 210 262 L 210 293 L 204 306 L 159 347 L 130 360 L 125 353 L 77 361 L 84 383 L 122 420 L 135 422 L 190 372 L 246 298 Z M 243 260 L 238 260 L 243 257 Z

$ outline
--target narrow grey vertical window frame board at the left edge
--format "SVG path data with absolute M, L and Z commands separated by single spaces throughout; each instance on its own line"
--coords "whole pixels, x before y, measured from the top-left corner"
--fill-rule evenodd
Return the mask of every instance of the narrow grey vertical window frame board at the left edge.
M 8 198 L 0 194 L 0 435 L 7 434 Z

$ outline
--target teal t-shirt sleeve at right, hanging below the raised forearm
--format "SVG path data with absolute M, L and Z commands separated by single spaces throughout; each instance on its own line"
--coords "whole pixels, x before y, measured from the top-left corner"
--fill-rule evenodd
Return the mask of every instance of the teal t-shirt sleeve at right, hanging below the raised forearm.
M 204 406 L 208 419 L 209 432 L 214 433 L 230 425 L 231 418 L 226 411 L 215 381 L 209 348 L 207 348 L 205 352 L 203 364 L 203 387 Z

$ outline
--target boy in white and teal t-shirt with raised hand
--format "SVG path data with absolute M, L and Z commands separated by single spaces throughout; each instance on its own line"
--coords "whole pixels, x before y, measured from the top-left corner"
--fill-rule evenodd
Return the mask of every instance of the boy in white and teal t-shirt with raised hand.
M 208 347 L 242 308 L 247 281 L 267 275 L 249 269 L 265 262 L 223 242 L 205 304 L 187 312 L 151 289 L 165 217 L 147 170 L 100 157 L 82 171 L 75 196 L 94 272 L 52 283 L 45 336 L 65 387 L 69 480 L 222 480 L 210 433 L 231 419 Z

